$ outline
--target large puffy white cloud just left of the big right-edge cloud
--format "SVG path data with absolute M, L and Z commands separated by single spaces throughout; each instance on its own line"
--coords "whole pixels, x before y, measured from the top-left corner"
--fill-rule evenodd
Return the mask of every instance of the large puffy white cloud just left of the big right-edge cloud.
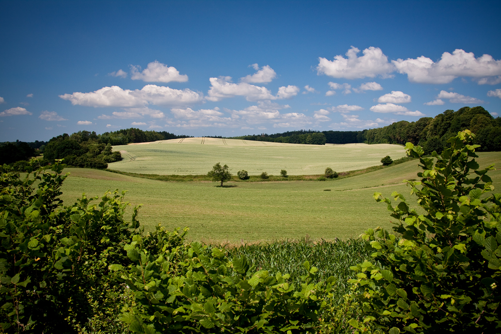
M 363 56 L 357 57 L 359 52 L 359 49 L 352 46 L 346 53 L 348 58 L 338 55 L 333 61 L 329 61 L 320 57 L 317 74 L 333 78 L 362 79 L 374 78 L 377 75 L 387 78 L 389 73 L 393 72 L 393 65 L 388 62 L 381 49 L 370 47 L 362 52 Z

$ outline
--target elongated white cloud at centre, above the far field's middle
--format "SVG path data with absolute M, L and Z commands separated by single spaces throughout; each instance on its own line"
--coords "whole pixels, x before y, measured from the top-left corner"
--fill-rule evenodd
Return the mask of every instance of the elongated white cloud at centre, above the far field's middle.
M 210 89 L 207 100 L 217 102 L 224 98 L 244 96 L 247 101 L 290 99 L 298 95 L 299 88 L 296 86 L 280 87 L 277 96 L 274 96 L 267 88 L 241 82 L 231 83 L 231 77 L 210 78 Z

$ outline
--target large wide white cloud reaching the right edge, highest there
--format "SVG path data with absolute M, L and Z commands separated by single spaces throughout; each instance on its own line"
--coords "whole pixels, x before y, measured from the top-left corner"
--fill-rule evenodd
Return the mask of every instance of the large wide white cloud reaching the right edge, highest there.
M 489 82 L 488 78 L 501 75 L 501 60 L 489 55 L 475 58 L 473 53 L 461 49 L 452 54 L 444 52 L 437 63 L 424 56 L 392 63 L 399 73 L 407 74 L 410 82 L 422 84 L 447 84 L 457 77 L 478 78 L 478 83 L 484 84 Z

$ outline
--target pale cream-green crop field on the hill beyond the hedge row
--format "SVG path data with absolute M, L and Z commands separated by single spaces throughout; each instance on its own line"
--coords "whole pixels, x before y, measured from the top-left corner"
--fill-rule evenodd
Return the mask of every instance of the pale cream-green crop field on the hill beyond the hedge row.
M 131 173 L 159 175 L 206 174 L 220 162 L 232 174 L 244 169 L 249 175 L 267 172 L 280 175 L 323 174 L 326 167 L 337 172 L 379 165 L 389 155 L 405 156 L 400 145 L 345 144 L 301 145 L 219 138 L 184 138 L 151 143 L 114 146 L 123 160 L 108 168 Z

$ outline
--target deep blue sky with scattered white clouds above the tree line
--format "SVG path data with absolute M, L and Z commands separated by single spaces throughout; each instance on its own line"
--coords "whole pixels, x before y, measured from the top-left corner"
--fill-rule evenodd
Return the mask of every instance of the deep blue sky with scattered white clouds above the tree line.
M 0 1 L 0 141 L 501 116 L 500 5 Z

